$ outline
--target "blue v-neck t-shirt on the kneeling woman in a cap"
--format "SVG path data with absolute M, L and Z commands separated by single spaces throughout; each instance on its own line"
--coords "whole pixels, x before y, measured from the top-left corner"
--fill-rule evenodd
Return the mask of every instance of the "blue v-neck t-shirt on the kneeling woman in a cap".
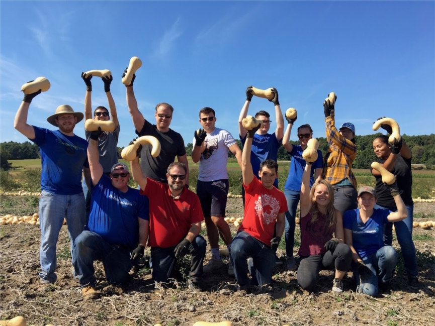
M 370 219 L 364 224 L 360 219 L 359 208 L 347 210 L 343 215 L 343 228 L 352 230 L 352 243 L 360 258 L 367 257 L 384 247 L 384 223 L 391 210 L 374 209 Z

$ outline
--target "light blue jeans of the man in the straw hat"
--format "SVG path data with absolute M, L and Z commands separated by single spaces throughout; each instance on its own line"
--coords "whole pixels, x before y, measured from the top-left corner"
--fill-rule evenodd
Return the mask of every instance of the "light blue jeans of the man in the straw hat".
M 59 232 L 66 219 L 68 234 L 71 240 L 72 264 L 74 264 L 74 241 L 84 229 L 84 196 L 58 195 L 45 190 L 39 199 L 39 227 L 41 229 L 41 247 L 39 259 L 42 272 L 39 277 L 42 282 L 54 283 L 56 276 L 56 244 Z

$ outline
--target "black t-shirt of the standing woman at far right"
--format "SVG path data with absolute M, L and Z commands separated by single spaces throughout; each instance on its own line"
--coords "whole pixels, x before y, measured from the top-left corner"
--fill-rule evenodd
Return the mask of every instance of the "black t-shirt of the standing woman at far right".
M 377 162 L 383 164 L 385 160 L 378 159 Z M 372 168 L 370 168 L 370 171 Z M 397 186 L 399 188 L 400 196 L 403 202 L 407 206 L 414 204 L 412 201 L 412 172 L 411 172 L 411 158 L 403 158 L 402 155 L 397 155 L 396 162 L 394 163 L 393 169 L 391 170 L 397 177 Z M 396 211 L 396 203 L 394 202 L 393 196 L 389 188 L 387 188 L 382 183 L 382 178 L 380 175 L 375 175 L 376 178 L 376 195 L 378 196 L 377 204 L 386 207 L 390 210 Z

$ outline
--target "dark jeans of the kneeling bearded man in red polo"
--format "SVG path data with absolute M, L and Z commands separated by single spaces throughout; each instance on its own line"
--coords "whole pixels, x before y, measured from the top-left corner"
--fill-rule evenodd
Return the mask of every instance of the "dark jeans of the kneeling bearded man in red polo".
M 152 279 L 157 282 L 166 283 L 173 265 L 176 263 L 173 250 L 176 246 L 169 248 L 151 247 Z M 192 255 L 190 263 L 189 278 L 197 283 L 203 273 L 203 263 L 207 251 L 207 242 L 202 236 L 197 236 L 189 246 L 189 254 Z

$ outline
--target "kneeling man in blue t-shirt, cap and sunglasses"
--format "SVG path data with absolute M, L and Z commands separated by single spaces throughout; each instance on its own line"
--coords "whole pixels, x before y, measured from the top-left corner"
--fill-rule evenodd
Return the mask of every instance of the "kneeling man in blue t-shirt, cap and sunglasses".
M 148 239 L 148 198 L 128 186 L 130 173 L 124 163 L 114 164 L 110 176 L 104 173 L 99 162 L 100 134 L 101 128 L 90 135 L 91 212 L 73 250 L 74 270 L 85 299 L 100 296 L 95 289 L 94 261 L 102 260 L 107 281 L 120 285 L 127 280 L 132 262 L 143 256 Z

